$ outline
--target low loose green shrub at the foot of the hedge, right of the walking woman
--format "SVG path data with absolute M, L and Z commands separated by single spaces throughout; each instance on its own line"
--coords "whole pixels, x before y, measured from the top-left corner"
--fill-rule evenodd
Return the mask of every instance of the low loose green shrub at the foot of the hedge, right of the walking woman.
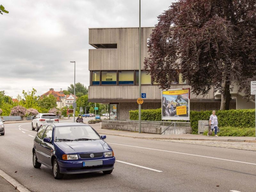
M 204 132 L 207 135 L 208 131 Z M 214 136 L 214 130 L 212 132 Z M 255 137 L 255 127 L 239 128 L 239 127 L 220 127 L 218 136 L 237 136 L 237 137 Z

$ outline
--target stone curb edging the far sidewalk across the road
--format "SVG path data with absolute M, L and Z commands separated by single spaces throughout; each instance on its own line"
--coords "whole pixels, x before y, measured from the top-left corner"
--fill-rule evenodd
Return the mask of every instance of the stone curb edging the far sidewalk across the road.
M 142 137 L 142 136 L 134 136 L 134 135 L 122 135 L 116 133 L 105 133 L 98 132 L 99 134 L 105 135 L 113 135 L 119 137 L 130 137 L 134 139 L 157 139 L 157 140 L 200 140 L 200 141 L 224 141 L 224 142 L 247 142 L 247 143 L 256 143 L 256 140 L 241 140 L 241 139 L 211 139 L 211 138 L 177 138 L 177 137 Z

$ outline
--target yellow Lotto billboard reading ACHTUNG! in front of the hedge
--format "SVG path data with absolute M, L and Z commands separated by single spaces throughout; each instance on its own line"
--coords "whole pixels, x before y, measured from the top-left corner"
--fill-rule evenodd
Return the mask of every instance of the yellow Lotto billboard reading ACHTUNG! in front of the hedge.
M 162 91 L 162 120 L 189 120 L 189 88 Z

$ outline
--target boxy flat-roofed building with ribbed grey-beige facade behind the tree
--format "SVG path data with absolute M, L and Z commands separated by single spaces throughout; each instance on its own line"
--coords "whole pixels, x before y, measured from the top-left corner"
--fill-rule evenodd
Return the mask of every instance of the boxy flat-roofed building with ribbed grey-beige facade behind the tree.
M 141 28 L 141 69 L 144 58 L 148 57 L 147 41 L 153 29 Z M 110 119 L 129 119 L 129 111 L 138 109 L 139 28 L 89 28 L 89 44 L 96 49 L 89 49 L 88 101 L 108 103 Z M 142 109 L 161 108 L 161 89 L 147 71 L 141 72 L 141 84 L 141 92 L 147 94 Z M 189 87 L 179 76 L 170 85 L 170 89 Z M 240 106 L 236 105 L 237 94 L 232 96 L 230 108 L 236 109 Z M 254 108 L 252 101 L 247 104 L 248 108 Z M 205 97 L 190 95 L 190 110 L 219 108 L 220 97 L 213 89 Z

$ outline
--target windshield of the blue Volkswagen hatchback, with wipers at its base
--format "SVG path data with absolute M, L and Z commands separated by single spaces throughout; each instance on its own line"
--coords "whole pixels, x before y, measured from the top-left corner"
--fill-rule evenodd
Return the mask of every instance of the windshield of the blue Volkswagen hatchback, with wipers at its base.
M 90 126 L 55 127 L 55 141 L 99 140 L 99 135 Z

